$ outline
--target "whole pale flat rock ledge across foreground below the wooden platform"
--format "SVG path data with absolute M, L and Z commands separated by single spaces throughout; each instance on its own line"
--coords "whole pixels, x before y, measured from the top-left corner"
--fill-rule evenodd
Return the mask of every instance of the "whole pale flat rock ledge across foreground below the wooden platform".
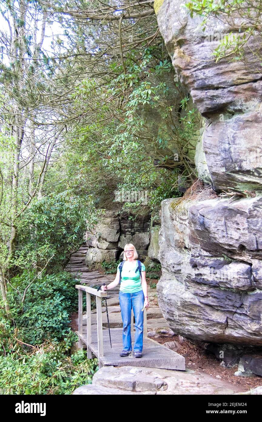
M 106 388 L 107 390 L 105 390 Z M 261 387 L 255 390 L 257 391 L 251 390 L 243 393 L 241 386 L 190 369 L 174 371 L 145 366 L 118 365 L 103 366 L 95 373 L 92 385 L 80 387 L 73 394 L 232 395 L 262 393 Z

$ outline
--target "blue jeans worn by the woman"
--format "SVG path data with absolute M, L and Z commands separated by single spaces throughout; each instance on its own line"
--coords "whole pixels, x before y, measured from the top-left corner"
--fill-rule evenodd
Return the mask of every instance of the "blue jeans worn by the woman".
M 144 328 L 144 292 L 123 293 L 119 292 L 119 303 L 123 319 L 123 350 L 131 351 L 131 309 L 135 317 L 135 343 L 134 352 L 142 352 L 143 349 L 143 328 Z

